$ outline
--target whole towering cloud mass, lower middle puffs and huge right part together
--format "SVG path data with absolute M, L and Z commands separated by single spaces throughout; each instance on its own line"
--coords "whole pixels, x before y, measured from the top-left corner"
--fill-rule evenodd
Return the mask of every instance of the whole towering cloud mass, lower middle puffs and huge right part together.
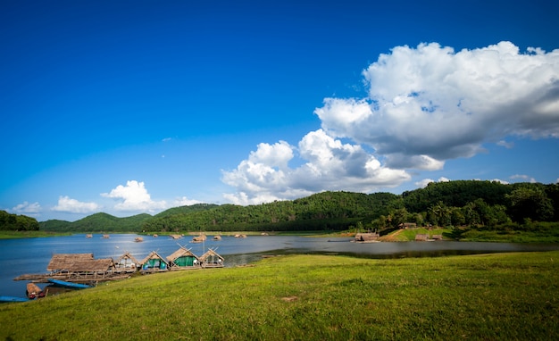
M 441 170 L 505 137 L 559 137 L 559 50 L 510 42 L 455 52 L 437 43 L 396 46 L 363 71 L 363 98 L 326 98 L 321 129 L 262 143 L 222 181 L 236 204 L 323 190 L 397 187 L 413 170 Z M 290 167 L 292 164 L 300 164 Z M 425 186 L 426 179 L 418 186 Z

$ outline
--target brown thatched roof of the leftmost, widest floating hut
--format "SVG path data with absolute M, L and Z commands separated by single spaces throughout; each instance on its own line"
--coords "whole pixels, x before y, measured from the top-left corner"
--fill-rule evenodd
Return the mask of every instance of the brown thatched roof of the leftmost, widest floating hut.
M 107 272 L 114 267 L 111 258 L 94 259 L 93 254 L 53 254 L 46 270 L 51 272 Z

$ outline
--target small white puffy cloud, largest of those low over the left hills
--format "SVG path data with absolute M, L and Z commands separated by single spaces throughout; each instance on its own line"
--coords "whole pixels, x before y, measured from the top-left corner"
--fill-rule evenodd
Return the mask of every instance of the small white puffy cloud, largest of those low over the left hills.
M 151 195 L 147 193 L 144 182 L 136 180 L 129 180 L 126 186 L 119 185 L 109 193 L 102 193 L 101 196 L 120 200 L 114 205 L 117 211 L 154 212 L 167 208 L 165 201 L 153 201 Z

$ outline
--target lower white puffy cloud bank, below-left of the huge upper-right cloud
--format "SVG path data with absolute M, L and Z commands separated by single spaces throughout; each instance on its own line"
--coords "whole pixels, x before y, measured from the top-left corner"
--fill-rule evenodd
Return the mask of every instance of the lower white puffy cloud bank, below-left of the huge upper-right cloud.
M 298 152 L 306 162 L 291 168 Z M 235 204 L 258 204 L 293 199 L 323 190 L 370 192 L 410 179 L 405 170 L 383 167 L 361 146 L 342 143 L 318 129 L 305 135 L 298 147 L 285 141 L 262 143 L 236 170 L 222 171 L 222 181 L 238 193 L 224 197 Z

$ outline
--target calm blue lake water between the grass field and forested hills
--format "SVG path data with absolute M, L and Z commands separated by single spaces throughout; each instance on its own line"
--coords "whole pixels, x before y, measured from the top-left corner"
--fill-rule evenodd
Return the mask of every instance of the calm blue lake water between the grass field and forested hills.
M 136 243 L 134 238 L 143 237 Z M 65 237 L 38 237 L 0 239 L 0 295 L 25 296 L 26 281 L 14 281 L 28 273 L 46 273 L 46 266 L 53 254 L 94 254 L 96 259 L 118 259 L 129 252 L 141 261 L 152 251 L 163 257 L 175 252 L 179 245 L 201 256 L 208 247 L 225 258 L 225 266 L 233 267 L 255 262 L 268 254 L 346 254 L 366 258 L 433 257 L 451 254 L 487 254 L 519 251 L 559 250 L 559 245 L 468 243 L 468 242 L 405 242 L 405 243 L 351 243 L 349 237 L 296 237 L 248 236 L 246 238 L 213 236 L 203 244 L 190 243 L 191 237 L 149 237 L 135 234 L 116 234 L 109 238 L 102 235 L 72 235 Z M 45 287 L 39 284 L 39 287 Z

